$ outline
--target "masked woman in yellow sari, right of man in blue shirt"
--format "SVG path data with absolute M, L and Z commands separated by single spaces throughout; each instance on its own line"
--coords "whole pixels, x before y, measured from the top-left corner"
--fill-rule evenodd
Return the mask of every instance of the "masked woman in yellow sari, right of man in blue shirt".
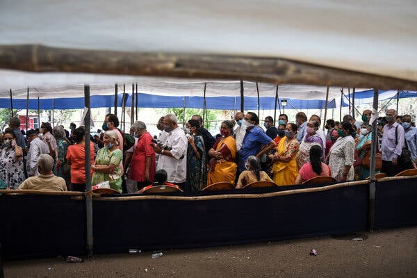
M 299 149 L 297 140 L 297 125 L 287 124 L 284 138 L 279 141 L 277 152 L 270 155 L 272 160 L 272 172 L 274 173 L 274 182 L 279 186 L 288 186 L 294 184 L 298 174 L 297 152 Z

